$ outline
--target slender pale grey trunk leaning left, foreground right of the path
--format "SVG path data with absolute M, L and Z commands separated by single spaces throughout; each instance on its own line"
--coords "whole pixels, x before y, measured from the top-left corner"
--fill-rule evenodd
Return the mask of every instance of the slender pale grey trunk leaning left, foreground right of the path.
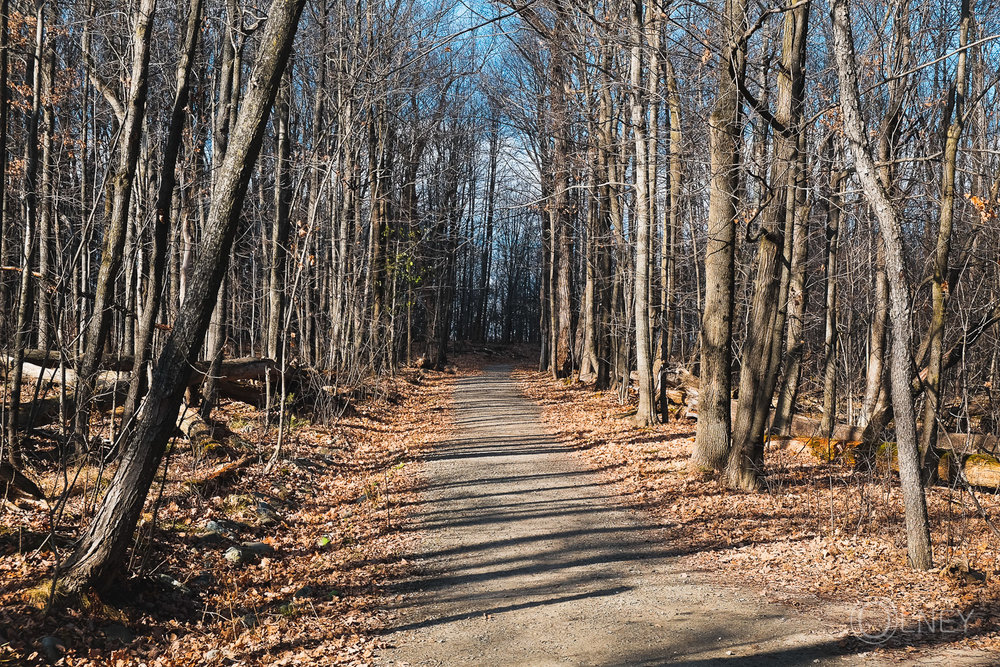
M 903 490 L 906 521 L 906 544 L 910 565 L 919 570 L 930 569 L 930 524 L 927 520 L 927 501 L 920 480 L 920 456 L 917 449 L 916 415 L 910 391 L 911 363 L 910 340 L 913 327 L 910 322 L 910 294 L 907 287 L 903 242 L 899 218 L 889 199 L 889 194 L 879 179 L 875 160 L 868 145 L 868 133 L 858 94 L 858 74 L 854 56 L 854 37 L 848 0 L 832 0 L 834 57 L 840 83 L 841 111 L 844 132 L 847 134 L 858 179 L 865 198 L 874 209 L 885 241 L 886 269 L 889 281 L 892 322 L 891 382 L 892 406 L 896 419 L 896 448 L 899 458 L 899 477 Z

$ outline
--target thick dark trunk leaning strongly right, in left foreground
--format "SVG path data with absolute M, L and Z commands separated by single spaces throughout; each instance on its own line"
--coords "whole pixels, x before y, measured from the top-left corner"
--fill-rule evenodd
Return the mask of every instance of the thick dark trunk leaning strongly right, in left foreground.
M 212 193 L 209 226 L 192 276 L 192 289 L 157 360 L 148 400 L 138 414 L 121 464 L 63 568 L 64 583 L 70 592 L 90 586 L 106 590 L 120 573 L 146 494 L 173 432 L 184 388 L 208 328 L 215 294 L 227 270 L 247 185 L 304 4 L 305 0 L 274 0 L 268 12 L 256 67 Z

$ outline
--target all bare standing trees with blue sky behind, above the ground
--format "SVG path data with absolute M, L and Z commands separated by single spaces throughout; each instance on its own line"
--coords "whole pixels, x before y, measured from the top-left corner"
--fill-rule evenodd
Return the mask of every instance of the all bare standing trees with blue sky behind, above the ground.
M 211 419 L 227 357 L 330 387 L 454 341 L 540 342 L 642 425 L 686 367 L 734 489 L 804 408 L 896 441 L 925 566 L 937 436 L 1000 423 L 1000 13 L 832 6 L 305 0 L 286 69 L 239 0 L 0 0 L 5 476 L 121 457 L 72 580 L 182 385 Z

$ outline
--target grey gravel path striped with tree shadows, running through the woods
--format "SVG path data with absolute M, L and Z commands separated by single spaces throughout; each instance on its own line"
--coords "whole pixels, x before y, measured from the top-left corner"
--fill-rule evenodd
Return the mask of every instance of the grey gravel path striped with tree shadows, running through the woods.
M 682 571 L 542 426 L 509 369 L 463 378 L 430 455 L 418 576 L 380 664 L 856 664 L 815 610 Z

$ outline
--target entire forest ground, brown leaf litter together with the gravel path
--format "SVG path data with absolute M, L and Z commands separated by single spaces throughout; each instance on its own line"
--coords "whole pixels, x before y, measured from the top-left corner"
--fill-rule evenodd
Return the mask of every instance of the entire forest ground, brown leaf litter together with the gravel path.
M 997 498 L 932 489 L 944 567 L 913 572 L 888 475 L 785 447 L 767 492 L 732 493 L 687 472 L 693 421 L 636 428 L 611 392 L 482 363 L 292 420 L 270 474 L 274 426 L 224 406 L 218 458 L 171 450 L 141 574 L 46 613 L 112 473 L 50 466 L 64 507 L 0 508 L 0 667 L 995 664 Z

